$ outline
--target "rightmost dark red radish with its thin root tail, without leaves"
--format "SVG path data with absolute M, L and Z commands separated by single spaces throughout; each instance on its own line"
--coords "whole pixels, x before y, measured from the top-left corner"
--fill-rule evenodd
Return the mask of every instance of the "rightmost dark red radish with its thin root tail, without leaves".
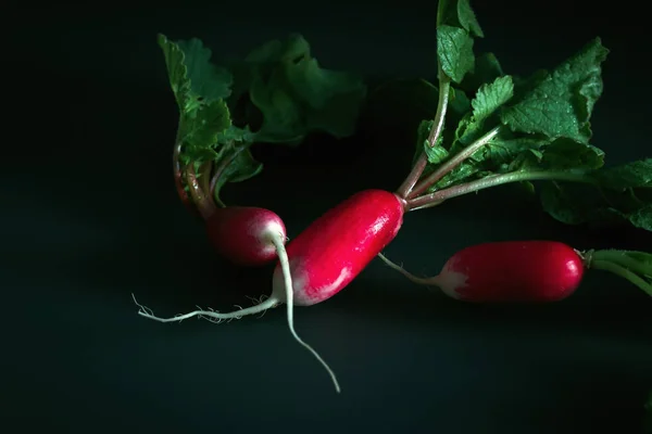
M 431 278 L 418 278 L 379 255 L 410 280 L 436 285 L 473 303 L 559 302 L 579 286 L 585 266 L 573 247 L 556 241 L 484 243 L 455 253 Z

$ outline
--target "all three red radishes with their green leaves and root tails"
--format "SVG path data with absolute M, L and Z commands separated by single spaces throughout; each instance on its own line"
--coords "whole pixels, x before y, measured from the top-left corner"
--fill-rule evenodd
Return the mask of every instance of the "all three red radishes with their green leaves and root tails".
M 578 288 L 587 268 L 615 272 L 652 295 L 652 256 L 641 252 L 580 253 L 553 241 L 480 244 L 453 255 L 434 278 L 417 278 L 381 255 L 402 228 L 405 213 L 511 182 L 534 190 L 532 181 L 547 181 L 541 191 L 542 204 L 562 221 L 577 224 L 609 216 L 652 230 L 645 214 L 652 204 L 647 204 L 647 196 L 639 191 L 652 184 L 652 161 L 602 169 L 603 153 L 588 143 L 589 117 L 602 89 L 600 64 L 607 52 L 599 39 L 552 73 L 542 76 L 539 72 L 530 79 L 521 79 L 503 74 L 492 55 L 475 58 L 473 38 L 482 36 L 468 0 L 439 1 L 438 86 L 427 85 L 430 93 L 435 89 L 437 108 L 418 125 L 412 170 L 396 192 L 371 189 L 352 194 L 287 245 L 280 217 L 268 209 L 224 205 L 218 199 L 220 186 L 260 171 L 261 165 L 243 152 L 256 137 L 296 144 L 312 127 L 323 128 L 328 116 L 333 123 L 326 129 L 335 137 L 352 132 L 355 116 L 343 117 L 355 104 L 341 101 L 353 95 L 353 103 L 359 103 L 359 87 L 343 73 L 314 73 L 318 66 L 304 41 L 292 39 L 287 52 L 283 44 L 272 43 L 250 56 L 250 62 L 260 62 L 264 68 L 275 62 L 279 66 L 274 73 L 265 69 L 263 74 L 264 68 L 259 71 L 254 65 L 248 76 L 249 97 L 233 95 L 228 75 L 205 62 L 210 52 L 206 56 L 201 44 L 190 43 L 181 50 L 161 40 L 181 108 L 174 157 L 179 196 L 203 218 L 211 242 L 222 256 L 242 266 L 272 260 L 277 264 L 272 293 L 258 305 L 230 312 L 195 310 L 162 318 L 137 303 L 138 314 L 161 322 L 191 317 L 220 322 L 286 304 L 292 336 L 318 359 L 340 392 L 333 370 L 297 335 L 293 306 L 312 306 L 335 296 L 376 256 L 414 282 L 437 285 L 451 297 L 468 302 L 561 301 Z M 186 56 L 193 50 L 199 54 L 191 62 Z M 279 52 L 285 54 L 274 54 Z M 191 68 L 200 68 L 202 74 L 192 74 Z M 286 76 L 288 71 L 292 74 Z M 193 77 L 213 77 L 213 81 L 196 86 Z M 328 89 L 334 82 L 337 89 Z M 278 88 L 268 88 L 273 85 Z M 205 89 L 210 91 L 199 93 Z M 573 105 L 578 99 L 586 100 L 581 110 Z M 265 118 L 256 132 L 236 125 L 231 111 L 242 101 L 253 103 Z M 542 104 L 550 112 L 546 116 L 541 115 Z M 315 113 L 319 107 L 324 112 Z M 396 111 L 396 106 L 391 108 Z M 446 140 L 451 143 L 442 144 Z M 179 154 L 186 157 L 185 166 L 178 163 Z M 209 181 L 212 167 L 216 169 Z M 568 183 L 589 190 L 577 192 L 567 188 Z M 580 201 L 564 202 L 573 194 L 591 197 L 586 206 L 595 209 L 576 209 Z M 606 205 L 600 202 L 605 197 Z

